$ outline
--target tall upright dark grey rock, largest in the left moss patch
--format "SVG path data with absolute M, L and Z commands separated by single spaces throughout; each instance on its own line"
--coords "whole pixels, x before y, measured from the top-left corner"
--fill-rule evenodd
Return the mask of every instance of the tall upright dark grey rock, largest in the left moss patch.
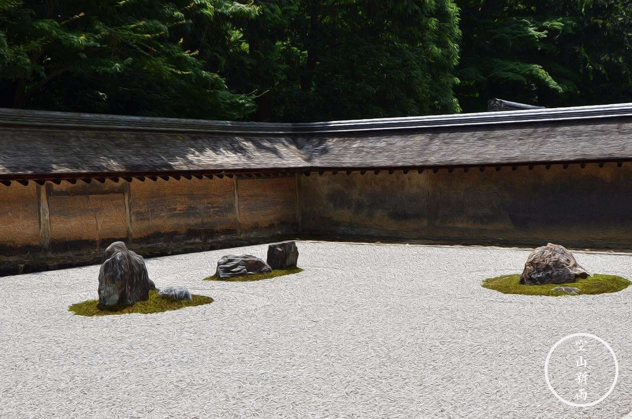
M 108 246 L 99 271 L 99 305 L 134 304 L 149 299 L 150 289 L 156 286 L 149 279 L 143 257 L 128 250 L 123 242 Z

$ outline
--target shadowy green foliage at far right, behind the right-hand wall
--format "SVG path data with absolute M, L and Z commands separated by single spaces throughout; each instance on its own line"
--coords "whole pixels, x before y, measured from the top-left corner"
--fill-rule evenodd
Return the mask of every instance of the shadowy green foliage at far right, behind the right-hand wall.
M 632 101 L 629 0 L 457 0 L 465 111 L 487 99 L 547 107 Z

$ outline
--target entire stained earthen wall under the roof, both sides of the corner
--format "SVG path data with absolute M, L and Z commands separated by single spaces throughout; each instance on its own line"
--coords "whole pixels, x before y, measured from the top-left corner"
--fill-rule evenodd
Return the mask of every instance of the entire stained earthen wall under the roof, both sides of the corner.
M 98 261 L 115 240 L 152 256 L 301 234 L 632 249 L 631 176 L 632 164 L 593 163 L 26 187 L 13 182 L 0 187 L 0 275 Z

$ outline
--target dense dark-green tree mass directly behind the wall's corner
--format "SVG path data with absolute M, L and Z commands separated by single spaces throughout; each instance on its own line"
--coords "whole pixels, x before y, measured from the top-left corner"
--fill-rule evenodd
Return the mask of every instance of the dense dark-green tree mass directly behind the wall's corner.
M 251 60 L 236 81 L 240 91 L 260 95 L 260 119 L 301 122 L 459 110 L 453 87 L 460 32 L 451 0 L 260 4 L 260 18 L 243 32 Z

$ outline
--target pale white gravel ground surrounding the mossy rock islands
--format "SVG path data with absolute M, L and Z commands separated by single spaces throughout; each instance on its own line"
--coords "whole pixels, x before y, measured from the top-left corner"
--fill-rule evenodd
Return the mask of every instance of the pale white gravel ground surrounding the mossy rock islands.
M 98 266 L 0 278 L 0 418 L 621 418 L 632 410 L 632 287 L 507 296 L 483 278 L 528 251 L 300 242 L 289 277 L 202 282 L 224 254 L 147 260 L 158 286 L 215 299 L 87 318 Z M 575 253 L 632 278 L 632 256 Z M 619 382 L 595 408 L 558 401 L 544 360 L 564 335 L 609 342 Z

